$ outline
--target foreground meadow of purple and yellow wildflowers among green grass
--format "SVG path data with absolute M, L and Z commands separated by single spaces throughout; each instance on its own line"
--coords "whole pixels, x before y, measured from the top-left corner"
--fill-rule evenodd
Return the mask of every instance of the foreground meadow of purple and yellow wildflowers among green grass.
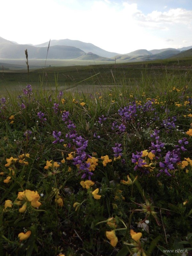
M 190 86 L 2 97 L 0 255 L 192 255 Z

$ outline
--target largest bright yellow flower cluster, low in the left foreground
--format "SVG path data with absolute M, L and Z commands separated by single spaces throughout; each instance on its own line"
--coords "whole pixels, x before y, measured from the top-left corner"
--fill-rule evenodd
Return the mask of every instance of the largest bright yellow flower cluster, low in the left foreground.
M 35 192 L 35 191 L 26 189 L 25 191 L 18 192 L 17 199 L 19 199 L 21 201 L 25 201 L 23 206 L 19 209 L 19 212 L 21 212 L 21 213 L 26 211 L 28 202 L 30 202 L 31 206 L 33 206 L 35 208 L 37 208 L 41 205 L 41 203 L 39 202 L 40 196 L 37 193 L 37 191 Z M 21 201 L 18 201 L 17 204 L 21 205 Z

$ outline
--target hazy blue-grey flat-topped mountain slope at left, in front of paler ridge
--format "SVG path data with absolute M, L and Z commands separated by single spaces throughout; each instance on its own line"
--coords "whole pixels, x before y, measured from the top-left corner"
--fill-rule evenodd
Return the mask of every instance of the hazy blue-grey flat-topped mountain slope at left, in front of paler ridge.
M 29 59 L 45 59 L 47 47 L 35 47 L 26 44 L 0 44 L 0 58 L 24 59 L 25 49 L 28 50 Z M 48 59 L 75 59 L 85 54 L 81 49 L 72 46 L 55 45 L 49 47 Z

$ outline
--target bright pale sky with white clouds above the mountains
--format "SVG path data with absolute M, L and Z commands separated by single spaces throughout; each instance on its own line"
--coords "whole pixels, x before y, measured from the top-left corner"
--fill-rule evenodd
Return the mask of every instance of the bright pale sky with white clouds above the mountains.
M 192 0 L 5 0 L 0 36 L 19 44 L 50 39 L 92 43 L 106 51 L 192 45 Z

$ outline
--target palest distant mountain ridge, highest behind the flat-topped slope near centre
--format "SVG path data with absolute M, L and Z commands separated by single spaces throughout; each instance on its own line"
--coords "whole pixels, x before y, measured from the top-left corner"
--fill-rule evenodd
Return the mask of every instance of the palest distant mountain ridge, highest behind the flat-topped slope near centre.
M 43 44 L 37 44 L 35 46 L 37 47 L 48 47 L 49 42 L 43 43 Z M 108 52 L 105 51 L 97 46 L 95 46 L 94 44 L 90 44 L 90 43 L 84 43 L 78 40 L 70 40 L 70 39 L 60 39 L 60 40 L 51 40 L 50 41 L 50 46 L 53 45 L 66 45 L 66 46 L 74 46 L 76 48 L 81 49 L 84 52 L 93 52 L 99 56 L 103 56 L 106 58 L 111 58 L 114 57 L 115 55 L 117 55 L 118 53 L 116 52 Z

